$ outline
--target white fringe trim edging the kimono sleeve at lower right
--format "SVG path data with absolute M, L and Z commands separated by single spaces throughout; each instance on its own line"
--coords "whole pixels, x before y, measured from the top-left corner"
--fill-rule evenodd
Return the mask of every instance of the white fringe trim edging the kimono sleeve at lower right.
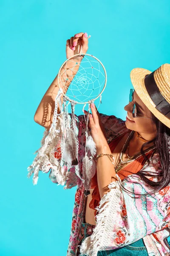
M 120 182 L 119 176 L 116 175 L 116 177 Z M 82 241 L 79 256 L 97 256 L 97 252 L 105 250 L 108 247 L 108 241 L 111 240 L 121 189 L 117 181 L 110 183 L 108 188 L 111 190 L 101 198 L 99 206 L 95 208 L 98 212 L 96 226 L 92 235 Z

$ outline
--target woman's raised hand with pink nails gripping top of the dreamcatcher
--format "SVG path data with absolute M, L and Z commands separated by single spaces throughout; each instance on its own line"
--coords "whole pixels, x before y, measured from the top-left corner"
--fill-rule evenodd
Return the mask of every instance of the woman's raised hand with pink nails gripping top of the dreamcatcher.
M 70 58 L 75 54 L 78 54 L 78 46 L 79 52 L 82 46 L 82 54 L 86 53 L 88 50 L 88 34 L 87 33 L 78 33 L 72 36 L 70 39 L 66 41 L 66 58 Z M 77 55 L 75 57 L 78 61 L 81 61 L 83 56 Z

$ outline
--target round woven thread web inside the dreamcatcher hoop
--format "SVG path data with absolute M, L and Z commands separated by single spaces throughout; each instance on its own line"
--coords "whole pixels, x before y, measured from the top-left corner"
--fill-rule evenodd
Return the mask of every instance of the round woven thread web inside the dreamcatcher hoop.
M 72 63 L 70 63 L 72 62 Z M 75 67 L 79 65 L 78 71 Z M 72 68 L 70 68 L 72 66 Z M 63 67 L 63 66 L 62 66 Z M 70 70 L 70 75 L 67 76 L 67 69 Z M 62 76 L 67 76 L 63 81 Z M 105 86 L 105 70 L 102 64 L 93 55 L 84 55 L 81 62 L 75 62 L 68 59 L 65 63 L 64 71 L 59 73 L 59 83 L 62 84 L 63 90 L 67 87 L 66 96 L 71 101 L 83 104 L 91 99 L 101 97 L 101 93 Z M 68 100 L 69 100 L 68 99 Z

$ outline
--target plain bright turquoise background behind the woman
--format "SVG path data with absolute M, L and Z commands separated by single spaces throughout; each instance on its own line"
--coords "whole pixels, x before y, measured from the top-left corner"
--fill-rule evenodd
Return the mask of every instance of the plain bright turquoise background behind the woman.
M 170 1 L 0 0 L 2 256 L 66 255 L 76 187 L 26 176 L 44 131 L 34 113 L 78 32 L 91 35 L 88 53 L 108 74 L 99 112 L 125 120 L 130 70 L 169 62 Z

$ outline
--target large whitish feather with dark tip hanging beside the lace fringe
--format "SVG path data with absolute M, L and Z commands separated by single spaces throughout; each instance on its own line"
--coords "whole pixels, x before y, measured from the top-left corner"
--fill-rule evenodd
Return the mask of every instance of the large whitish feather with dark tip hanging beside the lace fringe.
M 77 135 L 71 129 L 68 129 L 66 132 L 63 160 L 71 166 L 78 164 Z

